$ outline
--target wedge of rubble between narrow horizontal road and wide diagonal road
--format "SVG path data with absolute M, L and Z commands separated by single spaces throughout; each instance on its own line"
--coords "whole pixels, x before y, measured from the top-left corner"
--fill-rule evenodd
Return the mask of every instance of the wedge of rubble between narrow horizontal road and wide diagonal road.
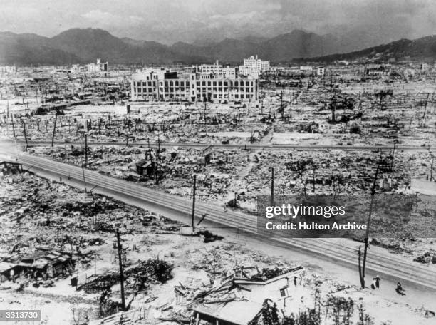
M 84 146 L 32 147 L 28 153 L 81 166 Z M 152 162 L 150 172 L 137 166 Z M 88 168 L 132 180 L 177 195 L 190 192 L 192 175 L 199 180 L 200 200 L 226 202 L 238 195 L 254 210 L 257 195 L 269 192 L 274 167 L 275 192 L 281 195 L 368 194 L 377 165 L 378 190 L 411 194 L 412 181 L 429 180 L 432 154 L 393 150 L 230 150 L 221 148 L 147 148 L 94 146 L 88 148 Z M 157 174 L 155 174 L 157 170 Z

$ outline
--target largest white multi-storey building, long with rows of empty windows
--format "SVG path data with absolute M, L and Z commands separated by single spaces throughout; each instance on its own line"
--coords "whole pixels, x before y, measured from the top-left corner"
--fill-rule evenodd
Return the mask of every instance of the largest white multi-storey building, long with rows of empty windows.
M 184 73 L 149 69 L 133 73 L 132 100 L 188 100 L 213 101 L 257 100 L 257 78 L 224 78 L 206 73 Z

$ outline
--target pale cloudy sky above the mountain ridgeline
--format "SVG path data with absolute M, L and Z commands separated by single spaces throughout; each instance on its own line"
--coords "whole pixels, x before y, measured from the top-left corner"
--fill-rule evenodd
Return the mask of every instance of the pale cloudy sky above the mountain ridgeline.
M 160 43 L 274 37 L 303 29 L 370 45 L 436 33 L 435 0 L 0 0 L 0 31 L 100 28 Z

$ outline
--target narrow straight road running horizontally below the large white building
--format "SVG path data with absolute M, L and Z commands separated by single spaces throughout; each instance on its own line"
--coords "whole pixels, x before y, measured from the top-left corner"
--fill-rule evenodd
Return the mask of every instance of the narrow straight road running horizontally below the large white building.
M 12 143 L 12 141 L 11 141 Z M 16 143 L 20 143 L 22 145 L 25 144 L 24 140 L 16 140 Z M 54 141 L 55 145 L 84 145 L 83 142 L 65 142 L 65 141 Z M 147 142 L 129 142 L 129 145 L 134 146 L 144 146 L 148 145 Z M 28 145 L 51 145 L 51 141 L 28 141 Z M 88 145 L 125 145 L 124 142 L 91 142 L 88 141 Z M 277 145 L 277 144 L 251 144 L 251 143 L 240 143 L 240 144 L 232 144 L 223 145 L 222 143 L 167 143 L 162 142 L 160 146 L 162 148 L 171 148 L 171 147 L 180 147 L 180 148 L 207 148 L 210 145 L 213 145 L 214 148 L 222 148 L 222 149 L 238 149 L 238 148 L 246 148 L 252 150 L 392 150 L 393 145 Z M 150 143 L 150 147 L 157 147 L 157 143 Z M 404 150 L 404 151 L 427 151 L 429 148 L 426 147 L 418 147 L 418 146 L 407 146 L 407 145 L 398 145 L 395 147 L 395 150 Z M 434 150 L 434 148 L 431 148 Z

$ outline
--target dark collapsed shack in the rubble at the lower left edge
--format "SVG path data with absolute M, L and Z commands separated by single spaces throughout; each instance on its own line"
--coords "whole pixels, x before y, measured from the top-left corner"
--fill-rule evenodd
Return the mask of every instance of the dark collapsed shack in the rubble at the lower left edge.
M 51 279 L 71 274 L 75 267 L 72 255 L 56 249 L 40 249 L 24 257 L 7 257 L 0 262 L 0 283 L 21 278 Z

